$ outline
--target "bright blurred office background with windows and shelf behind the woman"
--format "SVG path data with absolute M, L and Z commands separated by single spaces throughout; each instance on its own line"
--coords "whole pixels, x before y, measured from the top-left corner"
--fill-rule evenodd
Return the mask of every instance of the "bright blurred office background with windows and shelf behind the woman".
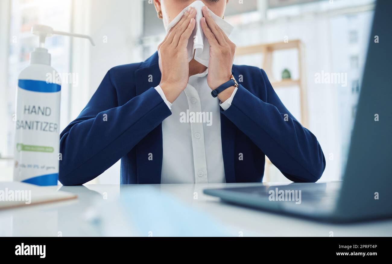
M 229 0 L 227 5 L 225 20 L 234 25 L 230 39 L 239 53 L 234 63 L 268 67 L 283 103 L 299 121 L 306 119 L 305 127 L 323 148 L 327 167 L 321 181 L 339 180 L 344 169 L 367 45 L 374 39 L 369 36 L 374 7 L 374 0 Z M 89 34 L 96 43 L 91 47 L 64 36 L 46 40 L 52 66 L 77 75 L 76 84 L 62 85 L 61 130 L 107 70 L 145 60 L 165 36 L 151 0 L 1 0 L 0 181 L 12 179 L 16 84 L 38 45 L 30 33 L 37 23 Z M 290 48 L 295 43 L 301 48 Z M 319 74 L 346 78 L 320 83 Z M 119 183 L 119 175 L 117 162 L 92 183 Z M 267 162 L 264 181 L 288 180 Z

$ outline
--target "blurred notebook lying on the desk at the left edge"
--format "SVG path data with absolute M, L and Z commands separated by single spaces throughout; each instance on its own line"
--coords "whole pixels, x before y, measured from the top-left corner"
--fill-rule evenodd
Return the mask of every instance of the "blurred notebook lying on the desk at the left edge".
M 16 181 L 0 182 L 0 210 L 77 198 L 76 194 L 57 191 L 56 188 Z

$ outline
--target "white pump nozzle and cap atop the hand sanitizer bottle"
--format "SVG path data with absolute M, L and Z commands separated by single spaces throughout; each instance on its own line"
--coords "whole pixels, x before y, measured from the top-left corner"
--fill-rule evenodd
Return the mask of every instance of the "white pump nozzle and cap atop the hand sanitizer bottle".
M 51 56 L 48 53 L 48 50 L 45 48 L 45 38 L 51 37 L 53 35 L 86 38 L 91 42 L 91 45 L 95 46 L 94 41 L 90 36 L 62 31 L 54 31 L 53 28 L 46 25 L 33 25 L 33 27 L 31 27 L 31 33 L 40 38 L 39 47 L 34 48 L 34 51 L 31 52 L 31 64 L 40 63 L 50 65 Z

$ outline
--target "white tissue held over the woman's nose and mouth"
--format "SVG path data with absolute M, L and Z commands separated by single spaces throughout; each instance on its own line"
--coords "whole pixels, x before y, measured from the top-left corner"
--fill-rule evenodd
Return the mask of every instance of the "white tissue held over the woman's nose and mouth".
M 182 15 L 189 9 L 189 7 L 194 7 L 196 9 L 196 25 L 195 28 L 192 32 L 191 37 L 189 38 L 188 42 L 188 61 L 191 61 L 193 58 L 193 54 L 195 52 L 195 60 L 203 64 L 204 66 L 208 67 L 208 62 L 210 59 L 210 44 L 208 43 L 207 38 L 204 36 L 203 29 L 201 29 L 201 24 L 200 20 L 203 17 L 203 11 L 201 11 L 201 8 L 205 4 L 201 2 L 200 0 L 193 2 L 192 4 L 188 5 L 185 7 L 178 16 L 176 16 L 166 27 L 166 33 L 169 32 L 169 30 L 176 25 L 178 21 L 180 21 Z M 221 19 L 219 16 L 216 14 L 212 13 L 211 10 L 209 10 L 212 19 L 215 21 L 215 23 L 222 29 L 223 32 L 227 36 L 230 35 L 230 33 L 233 30 L 233 26 L 227 23 L 225 20 Z

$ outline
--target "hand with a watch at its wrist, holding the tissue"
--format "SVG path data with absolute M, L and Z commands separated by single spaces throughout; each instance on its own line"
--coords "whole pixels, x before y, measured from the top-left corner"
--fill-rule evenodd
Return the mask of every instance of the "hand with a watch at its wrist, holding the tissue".
M 221 84 L 230 80 L 236 45 L 229 40 L 212 19 L 207 6 L 204 6 L 202 10 L 204 17 L 200 21 L 201 28 L 210 43 L 207 83 L 212 90 L 215 90 Z M 218 95 L 221 102 L 226 101 L 230 97 L 234 88 L 234 86 L 227 88 Z

